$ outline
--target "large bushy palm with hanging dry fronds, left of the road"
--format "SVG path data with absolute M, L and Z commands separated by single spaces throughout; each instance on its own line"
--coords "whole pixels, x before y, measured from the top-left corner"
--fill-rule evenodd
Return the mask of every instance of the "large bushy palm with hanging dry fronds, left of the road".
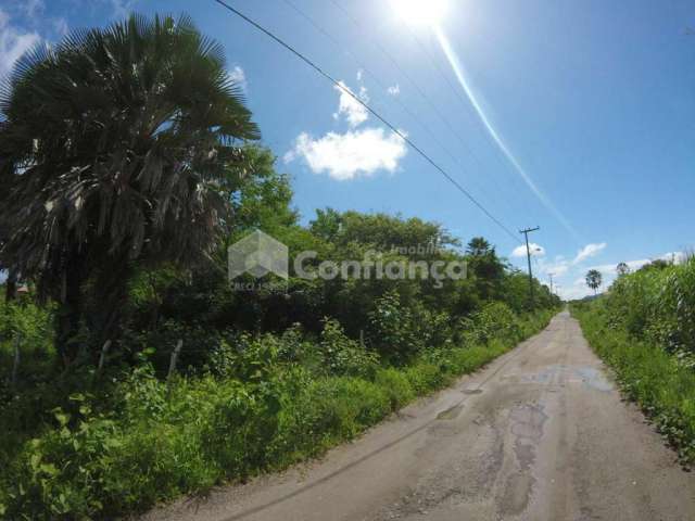
M 0 92 L 0 269 L 59 303 L 66 363 L 83 318 L 116 334 L 136 263 L 205 257 L 231 221 L 238 140 L 257 138 L 222 46 L 186 15 L 131 15 L 17 63 Z

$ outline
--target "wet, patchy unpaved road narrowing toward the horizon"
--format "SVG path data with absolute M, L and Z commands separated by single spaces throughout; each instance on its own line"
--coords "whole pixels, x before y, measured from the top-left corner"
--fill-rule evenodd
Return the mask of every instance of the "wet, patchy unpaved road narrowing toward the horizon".
M 151 512 L 186 520 L 695 520 L 695 475 L 563 313 L 319 462 Z

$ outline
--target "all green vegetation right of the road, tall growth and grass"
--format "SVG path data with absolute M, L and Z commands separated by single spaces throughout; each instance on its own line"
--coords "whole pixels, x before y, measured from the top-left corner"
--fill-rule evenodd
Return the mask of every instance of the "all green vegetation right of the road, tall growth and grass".
M 627 396 L 684 462 L 695 461 L 695 259 L 626 272 L 607 295 L 572 313 Z

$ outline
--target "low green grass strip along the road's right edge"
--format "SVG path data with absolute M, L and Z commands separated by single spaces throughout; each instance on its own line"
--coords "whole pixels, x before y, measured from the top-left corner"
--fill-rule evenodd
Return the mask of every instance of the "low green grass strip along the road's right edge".
M 592 348 L 616 372 L 627 397 L 636 402 L 681 462 L 695 462 L 695 373 L 661 346 L 630 335 L 608 319 L 602 303 L 572 307 Z

